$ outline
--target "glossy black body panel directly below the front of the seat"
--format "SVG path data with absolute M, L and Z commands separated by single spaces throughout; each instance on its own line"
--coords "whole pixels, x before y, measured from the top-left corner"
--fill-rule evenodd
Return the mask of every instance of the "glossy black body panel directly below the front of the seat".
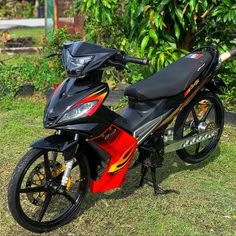
M 132 101 L 130 99 L 129 106 L 120 114 L 122 118 L 117 118 L 116 122 L 133 132 L 147 122 L 173 111 L 183 100 L 182 94 L 143 102 Z

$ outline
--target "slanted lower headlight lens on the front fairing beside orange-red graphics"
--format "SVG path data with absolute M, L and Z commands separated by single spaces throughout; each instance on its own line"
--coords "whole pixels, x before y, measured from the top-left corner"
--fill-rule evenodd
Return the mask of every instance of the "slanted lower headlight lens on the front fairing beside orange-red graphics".
M 91 101 L 81 104 L 80 106 L 64 114 L 58 123 L 71 121 L 83 117 L 90 109 L 92 109 L 97 104 L 97 102 L 98 101 Z

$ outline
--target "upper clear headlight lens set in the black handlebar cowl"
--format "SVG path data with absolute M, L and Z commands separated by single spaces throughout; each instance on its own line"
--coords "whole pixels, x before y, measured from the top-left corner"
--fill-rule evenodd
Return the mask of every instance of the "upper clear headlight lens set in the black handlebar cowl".
M 92 60 L 93 56 L 87 57 L 72 57 L 67 50 L 63 58 L 65 68 L 68 72 L 80 73 L 84 67 Z

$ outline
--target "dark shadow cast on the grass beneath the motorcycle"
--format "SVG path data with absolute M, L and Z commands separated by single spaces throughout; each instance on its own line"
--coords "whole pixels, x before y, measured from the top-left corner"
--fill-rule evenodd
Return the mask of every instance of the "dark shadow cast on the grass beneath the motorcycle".
M 163 167 L 157 169 L 157 180 L 161 184 L 170 175 L 173 175 L 175 173 L 187 171 L 187 170 L 198 170 L 198 169 L 204 168 L 209 163 L 214 162 L 219 155 L 220 155 L 220 146 L 218 146 L 215 149 L 215 151 L 207 160 L 198 164 L 190 165 L 190 164 L 184 163 L 175 155 L 169 154 L 165 157 Z M 126 175 L 126 178 L 128 181 L 118 190 L 115 190 L 108 194 L 99 193 L 95 195 L 92 195 L 92 194 L 87 195 L 87 199 L 85 200 L 83 204 L 84 207 L 82 209 L 81 214 L 83 214 L 83 212 L 88 210 L 89 208 L 93 207 L 97 201 L 111 200 L 111 199 L 114 199 L 114 200 L 124 199 L 130 196 L 131 194 L 133 194 L 138 188 L 138 184 L 140 180 L 140 166 L 136 167 L 135 169 L 129 170 Z M 148 175 L 147 178 L 150 179 L 150 176 Z M 147 184 L 147 181 L 145 181 L 145 184 Z M 152 188 L 152 186 L 150 186 L 150 188 Z

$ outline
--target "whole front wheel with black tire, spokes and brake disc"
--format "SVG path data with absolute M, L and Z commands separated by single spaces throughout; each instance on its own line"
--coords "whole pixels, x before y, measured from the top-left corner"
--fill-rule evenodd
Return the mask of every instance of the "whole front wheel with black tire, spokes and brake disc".
M 81 209 L 90 172 L 86 158 L 75 159 L 66 190 L 58 191 L 65 170 L 62 154 L 31 149 L 17 164 L 8 187 L 8 206 L 25 229 L 43 233 L 68 223 Z

